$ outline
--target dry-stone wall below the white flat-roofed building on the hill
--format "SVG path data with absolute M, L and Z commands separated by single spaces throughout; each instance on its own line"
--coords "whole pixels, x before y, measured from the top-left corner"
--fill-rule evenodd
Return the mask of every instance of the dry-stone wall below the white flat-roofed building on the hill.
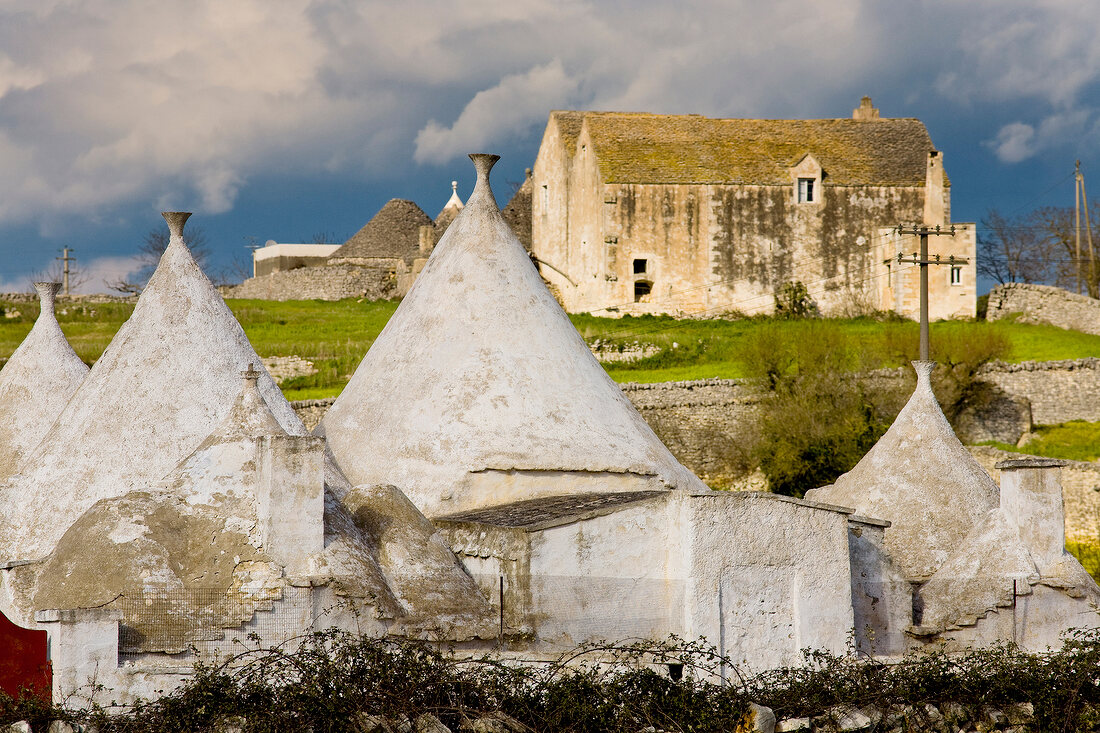
M 227 298 L 263 300 L 341 300 L 396 297 L 396 277 L 388 269 L 359 265 L 323 265 L 250 277 L 240 285 L 222 288 Z

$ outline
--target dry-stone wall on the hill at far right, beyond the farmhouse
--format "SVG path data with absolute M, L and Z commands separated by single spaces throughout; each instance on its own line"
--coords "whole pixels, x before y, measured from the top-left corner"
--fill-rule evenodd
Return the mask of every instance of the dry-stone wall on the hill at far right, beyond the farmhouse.
M 989 292 L 987 320 L 1015 316 L 1021 324 L 1047 324 L 1100 335 L 1100 300 L 1060 287 L 1008 283 Z

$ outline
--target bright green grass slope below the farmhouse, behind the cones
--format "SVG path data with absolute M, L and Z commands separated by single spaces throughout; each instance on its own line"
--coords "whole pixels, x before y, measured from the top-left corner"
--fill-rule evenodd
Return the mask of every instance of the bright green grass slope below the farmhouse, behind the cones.
M 396 302 L 229 300 L 245 332 L 262 357 L 299 355 L 318 368 L 311 376 L 284 383 L 292 400 L 339 394 L 367 348 L 397 308 Z M 26 336 L 35 304 L 0 304 L 0 359 L 7 359 Z M 128 304 L 58 304 L 58 320 L 80 358 L 99 358 L 111 337 L 133 310 Z M 663 382 L 706 378 L 740 378 L 748 374 L 741 358 L 747 340 L 770 329 L 773 338 L 831 338 L 849 350 L 853 368 L 897 366 L 912 358 L 917 326 L 908 321 L 804 320 L 676 320 L 669 317 L 596 318 L 572 316 L 581 335 L 605 349 L 651 344 L 659 352 L 635 363 L 609 364 L 608 373 L 619 382 Z M 934 324 L 933 350 L 939 343 L 1002 337 L 1007 360 L 1054 360 L 1100 355 L 1100 336 L 1066 331 L 1048 326 L 1005 321 Z M 935 355 L 935 353 L 933 354 Z

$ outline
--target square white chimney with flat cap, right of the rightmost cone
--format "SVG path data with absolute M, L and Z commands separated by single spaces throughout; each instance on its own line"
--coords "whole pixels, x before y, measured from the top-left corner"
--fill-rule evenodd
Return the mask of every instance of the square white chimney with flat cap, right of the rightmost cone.
M 1067 461 L 1019 458 L 1001 461 L 1001 508 L 1020 533 L 1040 571 L 1066 551 L 1060 469 Z

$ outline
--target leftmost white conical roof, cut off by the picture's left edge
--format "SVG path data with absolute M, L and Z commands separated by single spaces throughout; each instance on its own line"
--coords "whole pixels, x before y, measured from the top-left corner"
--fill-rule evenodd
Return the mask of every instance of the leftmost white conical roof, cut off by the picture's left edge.
M 34 284 L 42 310 L 0 370 L 0 481 L 38 445 L 88 374 L 54 315 L 59 287 L 59 283 Z

